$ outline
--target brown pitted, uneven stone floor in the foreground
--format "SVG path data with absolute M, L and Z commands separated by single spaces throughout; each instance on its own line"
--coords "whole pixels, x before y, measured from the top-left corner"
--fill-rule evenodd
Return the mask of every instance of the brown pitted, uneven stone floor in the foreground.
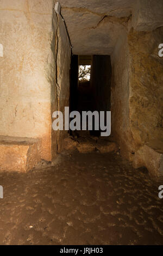
M 163 244 L 163 184 L 116 154 L 60 155 L 0 185 L 1 245 Z

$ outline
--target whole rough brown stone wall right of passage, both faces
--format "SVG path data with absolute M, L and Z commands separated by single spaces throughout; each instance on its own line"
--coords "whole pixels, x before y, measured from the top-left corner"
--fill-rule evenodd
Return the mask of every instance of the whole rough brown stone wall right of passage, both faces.
M 120 36 L 111 56 L 112 133 L 122 155 L 136 162 L 135 166 L 144 165 L 143 155 L 139 154 L 137 162 L 143 145 L 159 145 L 156 149 L 162 150 L 163 63 L 158 56 L 162 36 L 162 27 L 152 32 L 131 29 Z

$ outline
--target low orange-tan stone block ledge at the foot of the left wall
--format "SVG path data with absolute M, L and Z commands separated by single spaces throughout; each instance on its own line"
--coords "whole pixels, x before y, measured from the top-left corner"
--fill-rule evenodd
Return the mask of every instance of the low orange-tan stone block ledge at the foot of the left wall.
M 39 162 L 40 140 L 0 136 L 0 171 L 28 172 Z

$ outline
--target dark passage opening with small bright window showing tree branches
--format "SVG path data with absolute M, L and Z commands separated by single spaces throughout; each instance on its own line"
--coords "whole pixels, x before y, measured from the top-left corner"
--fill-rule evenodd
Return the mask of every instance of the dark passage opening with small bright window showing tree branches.
M 71 111 L 110 111 L 111 95 L 111 60 L 110 56 L 73 55 L 70 75 Z M 93 119 L 92 131 L 78 131 L 78 136 L 87 134 L 100 135 L 95 130 Z M 87 127 L 88 129 L 88 127 Z

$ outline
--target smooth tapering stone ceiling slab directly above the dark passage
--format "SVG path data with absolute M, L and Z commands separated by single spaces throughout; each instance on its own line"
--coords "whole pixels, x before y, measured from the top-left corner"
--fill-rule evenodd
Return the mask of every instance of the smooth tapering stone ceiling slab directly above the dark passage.
M 135 0 L 60 0 L 74 54 L 111 54 Z

